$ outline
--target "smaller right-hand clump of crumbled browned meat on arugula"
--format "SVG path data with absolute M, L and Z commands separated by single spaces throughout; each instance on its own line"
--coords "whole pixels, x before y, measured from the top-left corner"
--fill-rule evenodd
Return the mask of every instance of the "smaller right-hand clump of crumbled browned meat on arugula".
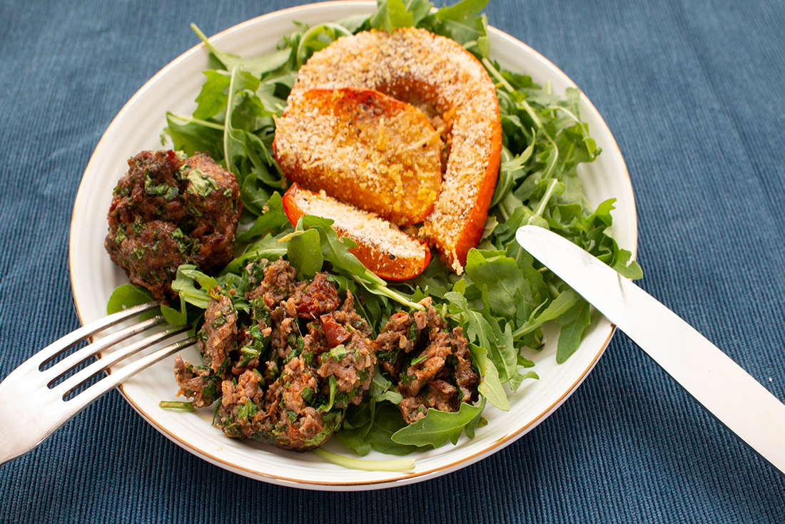
M 480 376 L 472 368 L 462 329 L 447 329 L 429 297 L 420 304 L 424 311 L 390 316 L 375 342 L 382 367 L 398 382 L 407 424 L 425 417 L 428 408 L 458 411 L 461 402 L 479 396 Z

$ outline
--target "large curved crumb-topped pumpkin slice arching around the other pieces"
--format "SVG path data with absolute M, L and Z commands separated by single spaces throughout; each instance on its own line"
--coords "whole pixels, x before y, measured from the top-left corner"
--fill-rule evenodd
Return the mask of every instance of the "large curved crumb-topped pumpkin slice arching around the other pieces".
M 425 112 L 444 136 L 444 180 L 421 231 L 460 273 L 482 235 L 496 185 L 502 126 L 495 86 L 463 47 L 424 29 L 338 38 L 301 67 L 289 104 L 309 89 L 377 89 Z M 365 208 L 368 209 L 368 208 Z

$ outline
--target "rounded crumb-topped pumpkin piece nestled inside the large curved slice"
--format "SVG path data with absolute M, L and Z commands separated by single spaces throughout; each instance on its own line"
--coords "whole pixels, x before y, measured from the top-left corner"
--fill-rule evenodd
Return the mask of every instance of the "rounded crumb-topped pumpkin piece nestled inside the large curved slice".
M 311 89 L 276 120 L 283 173 L 394 224 L 425 220 L 441 187 L 439 133 L 422 111 L 373 89 Z

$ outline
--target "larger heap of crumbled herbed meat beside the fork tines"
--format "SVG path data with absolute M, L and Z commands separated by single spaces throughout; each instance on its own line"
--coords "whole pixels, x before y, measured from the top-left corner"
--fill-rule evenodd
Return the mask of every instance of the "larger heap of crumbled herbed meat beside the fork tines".
M 195 406 L 221 398 L 215 424 L 227 435 L 305 451 L 340 427 L 345 406 L 360 402 L 376 360 L 367 339 L 371 328 L 357 315 L 352 294 L 341 304 L 327 275 L 312 281 L 295 275 L 284 260 L 249 264 L 247 315 L 235 309 L 226 289 L 213 289 L 199 333 L 205 366 L 178 358 L 175 376 Z M 322 315 L 352 333 L 341 348 L 328 344 Z M 215 383 L 217 394 L 206 395 L 205 384 Z

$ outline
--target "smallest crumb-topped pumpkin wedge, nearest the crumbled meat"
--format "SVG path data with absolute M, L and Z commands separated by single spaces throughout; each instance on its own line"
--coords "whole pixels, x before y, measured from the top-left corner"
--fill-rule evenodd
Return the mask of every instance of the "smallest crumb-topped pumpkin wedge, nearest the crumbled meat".
M 338 202 L 324 191 L 315 193 L 292 184 L 283 195 L 283 211 L 293 226 L 305 215 L 333 220 L 333 229 L 339 237 L 357 242 L 357 247 L 349 252 L 368 270 L 388 280 L 414 278 L 431 260 L 430 249 L 424 242 L 374 213 Z

